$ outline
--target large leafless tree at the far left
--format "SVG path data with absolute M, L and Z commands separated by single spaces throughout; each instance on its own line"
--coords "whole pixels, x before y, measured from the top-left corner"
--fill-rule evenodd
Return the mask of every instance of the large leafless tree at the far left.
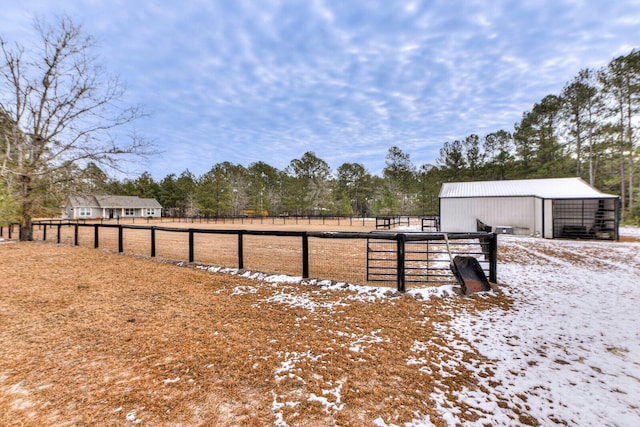
M 143 113 L 122 106 L 123 87 L 91 55 L 93 39 L 67 17 L 34 28 L 41 45 L 31 50 L 0 37 L 0 116 L 8 122 L 0 127 L 0 178 L 18 194 L 21 240 L 32 238 L 39 189 L 61 188 L 88 162 L 122 170 L 123 157 L 151 154 L 135 134 L 114 135 Z

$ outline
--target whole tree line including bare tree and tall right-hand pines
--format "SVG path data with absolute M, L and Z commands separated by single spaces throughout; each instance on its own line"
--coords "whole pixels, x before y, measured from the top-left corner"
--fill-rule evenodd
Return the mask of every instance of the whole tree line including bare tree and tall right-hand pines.
M 155 181 L 104 172 L 153 149 L 138 135 L 110 134 L 143 112 L 112 109 L 122 88 L 93 62 L 92 39 L 68 18 L 36 22 L 36 30 L 40 49 L 0 37 L 0 222 L 20 222 L 26 240 L 31 218 L 59 215 L 72 194 L 153 197 L 165 213 L 185 216 L 425 215 L 438 212 L 443 182 L 569 176 L 619 195 L 624 217 L 640 221 L 638 49 L 581 70 L 513 129 L 444 142 L 433 163 L 415 165 L 393 146 L 378 176 L 359 163 L 332 170 L 309 151 L 284 170 L 222 162 L 200 176 L 185 170 Z

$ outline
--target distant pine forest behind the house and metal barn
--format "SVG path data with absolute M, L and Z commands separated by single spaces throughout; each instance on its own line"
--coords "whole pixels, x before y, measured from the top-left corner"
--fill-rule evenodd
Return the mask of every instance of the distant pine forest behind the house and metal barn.
M 333 171 L 313 152 L 284 170 L 222 162 L 201 176 L 185 170 L 159 182 L 149 173 L 109 179 L 89 164 L 72 190 L 153 197 L 166 214 L 184 216 L 424 215 L 438 212 L 443 182 L 578 176 L 619 195 L 623 219 L 639 221 L 639 112 L 640 50 L 634 49 L 601 69 L 581 70 L 511 130 L 444 142 L 435 164 L 414 165 L 397 146 L 389 148 L 382 176 L 359 163 Z

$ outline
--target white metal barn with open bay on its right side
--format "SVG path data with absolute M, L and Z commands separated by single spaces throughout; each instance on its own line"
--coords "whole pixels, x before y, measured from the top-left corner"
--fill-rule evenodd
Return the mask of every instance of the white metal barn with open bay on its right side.
M 445 183 L 440 229 L 618 240 L 619 197 L 580 178 Z

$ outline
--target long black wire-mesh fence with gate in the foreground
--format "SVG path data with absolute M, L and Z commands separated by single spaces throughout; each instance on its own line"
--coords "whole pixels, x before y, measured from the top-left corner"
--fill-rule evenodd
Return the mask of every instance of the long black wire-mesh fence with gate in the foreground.
M 11 228 L 8 230 L 11 233 Z M 387 282 L 401 292 L 407 284 L 455 282 L 442 233 L 231 230 L 44 221 L 33 223 L 32 234 L 34 240 L 221 268 L 354 284 Z M 489 280 L 497 281 L 495 234 L 451 233 L 448 238 L 452 256 L 476 256 Z M 383 274 L 372 275 L 378 267 Z

